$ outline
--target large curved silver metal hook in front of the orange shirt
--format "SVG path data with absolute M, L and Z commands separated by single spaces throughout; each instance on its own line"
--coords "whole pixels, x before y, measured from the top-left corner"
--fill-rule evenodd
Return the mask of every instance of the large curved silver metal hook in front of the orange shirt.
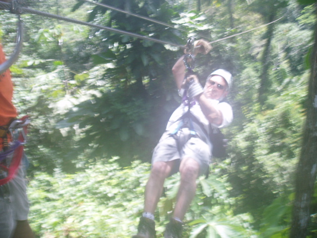
M 18 29 L 17 29 L 17 35 L 16 35 L 15 50 L 12 56 L 10 57 L 10 59 L 0 64 L 0 74 L 5 72 L 5 70 L 7 70 L 18 59 L 20 51 L 22 49 L 24 24 L 20 18 L 20 15 L 18 15 L 18 18 L 19 18 L 19 23 L 18 23 Z

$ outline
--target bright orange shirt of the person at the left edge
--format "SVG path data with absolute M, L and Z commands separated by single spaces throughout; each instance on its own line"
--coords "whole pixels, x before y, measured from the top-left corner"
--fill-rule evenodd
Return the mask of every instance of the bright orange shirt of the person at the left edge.
M 5 56 L 0 45 L 0 64 L 5 61 Z M 16 118 L 17 112 L 12 104 L 13 84 L 11 81 L 10 70 L 0 74 L 0 126 L 6 125 L 13 118 Z

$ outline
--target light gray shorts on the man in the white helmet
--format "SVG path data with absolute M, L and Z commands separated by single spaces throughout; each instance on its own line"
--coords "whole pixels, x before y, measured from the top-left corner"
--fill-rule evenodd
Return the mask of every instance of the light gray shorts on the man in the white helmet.
M 199 137 L 191 136 L 188 128 L 180 129 L 175 135 L 166 131 L 154 149 L 152 164 L 178 160 L 178 166 L 172 171 L 175 174 L 179 170 L 180 161 L 185 157 L 196 160 L 200 167 L 199 174 L 205 175 L 211 163 L 211 147 Z

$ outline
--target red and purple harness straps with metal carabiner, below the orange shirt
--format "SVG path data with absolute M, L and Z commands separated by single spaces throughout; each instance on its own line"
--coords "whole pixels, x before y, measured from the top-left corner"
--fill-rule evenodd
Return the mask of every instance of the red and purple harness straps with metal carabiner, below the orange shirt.
M 23 145 L 26 143 L 27 126 L 30 123 L 29 117 L 16 119 L 11 122 L 7 130 L 7 136 L 12 138 L 8 143 L 8 148 L 0 153 L 0 172 L 7 176 L 0 179 L 0 186 L 14 178 L 17 169 L 20 166 L 23 157 Z M 12 156 L 11 161 L 9 158 Z M 8 165 L 9 164 L 9 165 Z

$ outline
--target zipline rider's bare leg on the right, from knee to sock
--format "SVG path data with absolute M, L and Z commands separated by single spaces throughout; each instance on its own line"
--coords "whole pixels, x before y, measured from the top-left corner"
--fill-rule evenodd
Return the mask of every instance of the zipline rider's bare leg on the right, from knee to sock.
M 199 164 L 191 158 L 183 159 L 180 164 L 181 181 L 174 209 L 174 217 L 183 220 L 196 193 L 196 179 L 199 176 Z

